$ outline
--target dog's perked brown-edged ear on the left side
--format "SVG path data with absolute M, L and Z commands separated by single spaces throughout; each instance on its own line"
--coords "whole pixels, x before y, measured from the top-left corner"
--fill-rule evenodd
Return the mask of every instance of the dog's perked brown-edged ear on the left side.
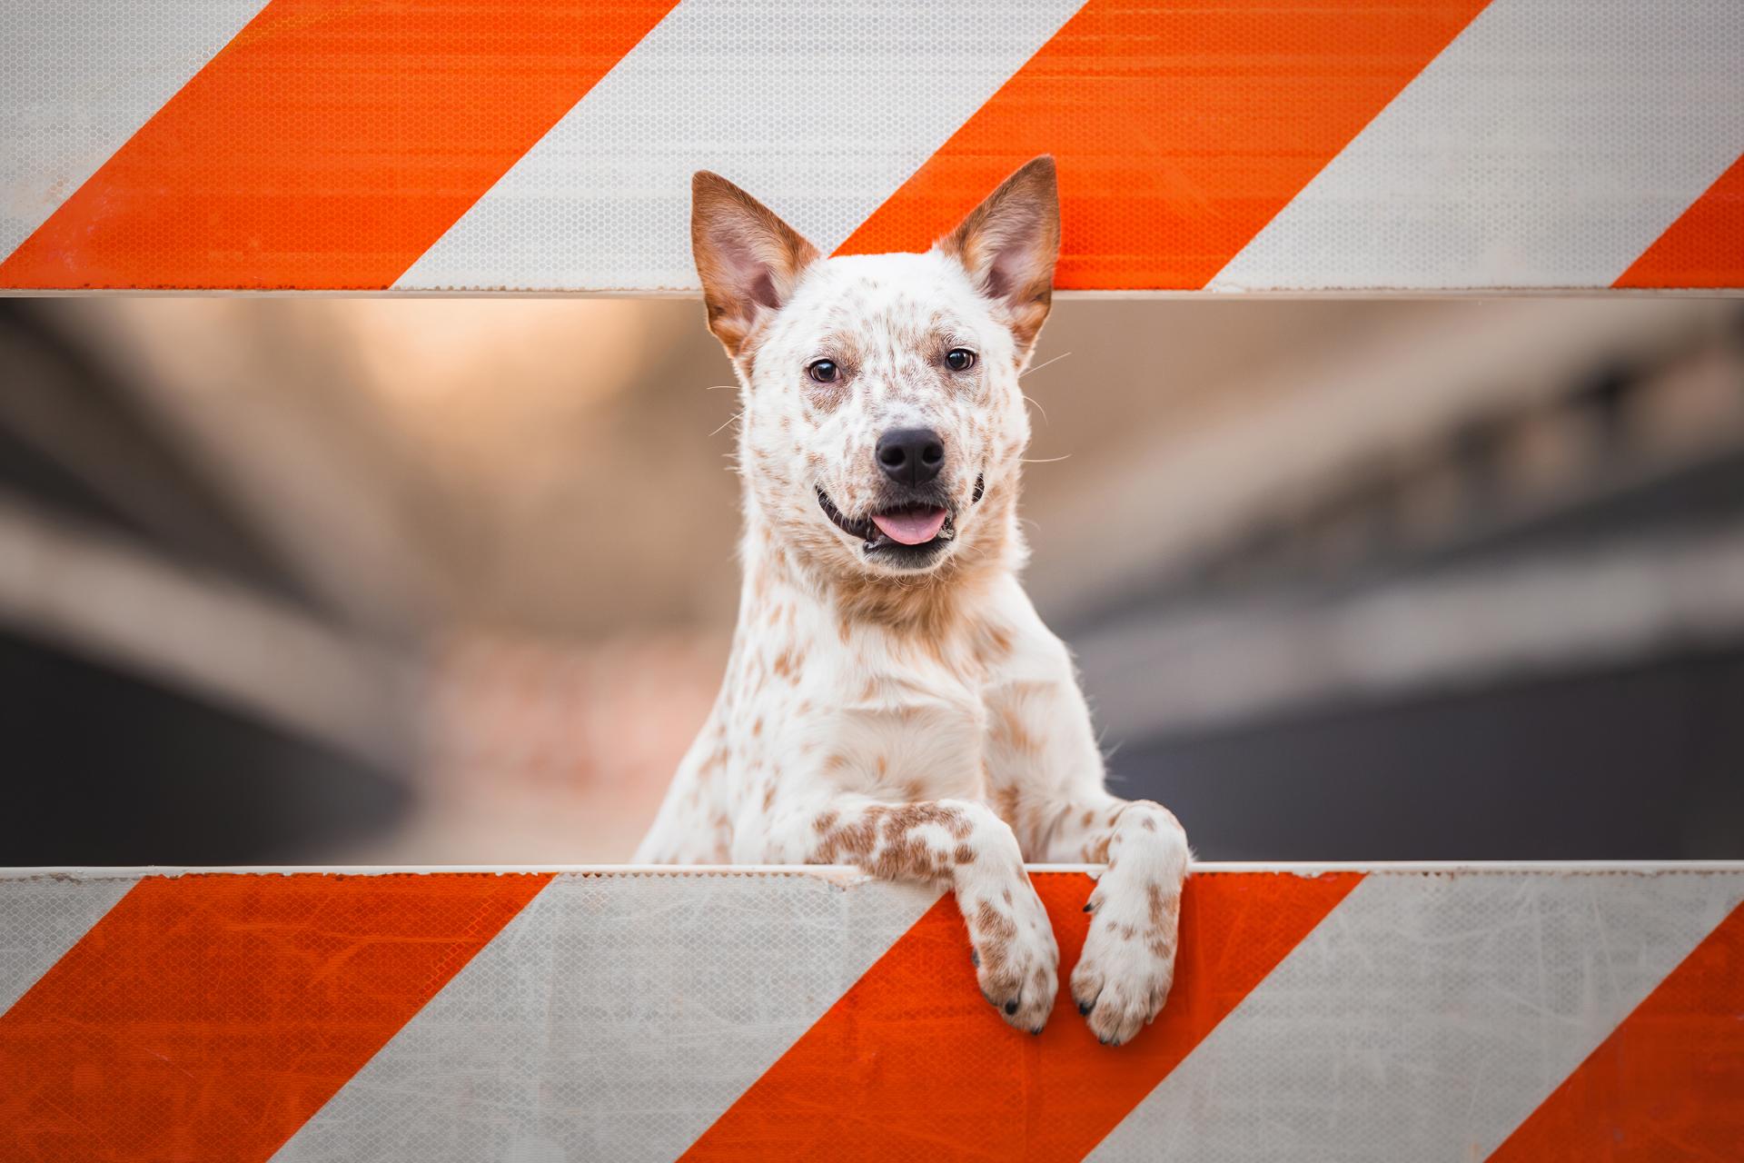
M 757 330 L 794 293 L 818 249 L 773 209 L 706 169 L 691 178 L 691 249 L 703 279 L 708 330 L 738 357 Z

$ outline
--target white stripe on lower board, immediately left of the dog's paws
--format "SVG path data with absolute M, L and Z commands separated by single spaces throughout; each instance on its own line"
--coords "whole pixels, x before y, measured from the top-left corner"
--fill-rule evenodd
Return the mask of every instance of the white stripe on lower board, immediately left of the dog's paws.
M 937 898 L 558 875 L 274 1160 L 673 1160 Z

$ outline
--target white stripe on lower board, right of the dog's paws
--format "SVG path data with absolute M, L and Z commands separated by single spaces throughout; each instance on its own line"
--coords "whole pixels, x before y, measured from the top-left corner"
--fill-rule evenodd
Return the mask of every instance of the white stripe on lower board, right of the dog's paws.
M 1489 1154 L 1744 900 L 1744 874 L 1373 874 L 1092 1153 Z

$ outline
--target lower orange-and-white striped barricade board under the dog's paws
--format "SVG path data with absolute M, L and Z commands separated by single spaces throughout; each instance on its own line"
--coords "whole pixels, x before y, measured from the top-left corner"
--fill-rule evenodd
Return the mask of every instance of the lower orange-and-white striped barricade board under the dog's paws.
M 1060 945 L 1095 870 L 1034 870 Z M 1127 1046 L 848 870 L 0 875 L 0 1158 L 1744 1158 L 1744 865 L 1200 867 Z

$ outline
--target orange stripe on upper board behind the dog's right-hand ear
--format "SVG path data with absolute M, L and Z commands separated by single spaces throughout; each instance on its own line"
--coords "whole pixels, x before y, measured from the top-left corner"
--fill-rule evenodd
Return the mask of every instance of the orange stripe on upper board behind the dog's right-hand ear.
M 1036 153 L 1060 288 L 1205 286 L 1488 0 L 1090 0 L 839 253 L 919 251 Z

